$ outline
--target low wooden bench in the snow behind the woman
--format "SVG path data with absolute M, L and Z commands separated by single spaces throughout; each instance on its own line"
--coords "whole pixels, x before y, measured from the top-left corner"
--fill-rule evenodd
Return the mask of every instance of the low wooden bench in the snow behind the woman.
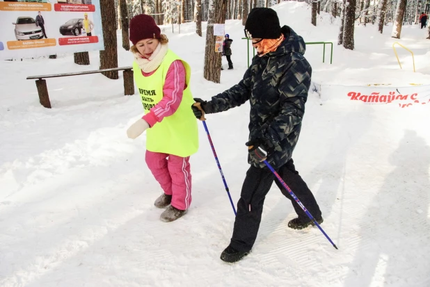
M 49 101 L 49 94 L 47 88 L 47 82 L 44 79 L 47 78 L 58 78 L 61 76 L 79 76 L 86 74 L 98 74 L 103 72 L 113 72 L 113 71 L 124 71 L 122 72 L 122 77 L 124 79 L 124 95 L 134 95 L 134 79 L 133 79 L 133 67 L 119 67 L 113 69 L 96 69 L 94 71 L 86 72 L 74 72 L 65 74 L 51 74 L 43 76 L 28 76 L 27 80 L 36 79 L 36 87 L 38 88 L 38 94 L 40 99 L 40 104 L 45 108 L 51 108 L 51 101 Z

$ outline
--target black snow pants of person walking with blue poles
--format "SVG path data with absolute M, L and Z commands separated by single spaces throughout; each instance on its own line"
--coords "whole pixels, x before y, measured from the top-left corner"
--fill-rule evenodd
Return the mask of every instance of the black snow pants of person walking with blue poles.
M 321 217 L 321 211 L 312 192 L 294 167 L 290 159 L 285 165 L 276 170 L 296 197 L 308 209 L 314 218 Z M 246 172 L 246 178 L 241 190 L 241 198 L 237 202 L 237 215 L 234 220 L 233 236 L 230 245 L 239 251 L 248 252 L 252 249 L 257 238 L 262 218 L 264 199 L 271 188 L 273 181 L 283 195 L 291 200 L 298 218 L 309 220 L 308 215 L 301 209 L 288 191 L 276 179 L 268 168 L 258 168 L 251 165 Z

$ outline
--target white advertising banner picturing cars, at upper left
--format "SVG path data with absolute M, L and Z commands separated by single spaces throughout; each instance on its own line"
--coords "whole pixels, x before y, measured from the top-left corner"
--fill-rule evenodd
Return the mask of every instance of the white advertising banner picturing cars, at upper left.
M 104 49 L 99 0 L 0 0 L 0 59 Z

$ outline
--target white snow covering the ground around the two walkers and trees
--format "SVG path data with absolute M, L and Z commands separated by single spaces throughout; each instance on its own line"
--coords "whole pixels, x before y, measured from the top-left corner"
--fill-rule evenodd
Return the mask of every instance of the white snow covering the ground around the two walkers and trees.
M 234 214 L 202 124 L 191 209 L 161 222 L 145 137 L 125 135 L 143 113 L 140 100 L 122 95 L 122 79 L 90 74 L 47 79 L 53 108 L 42 108 L 26 76 L 99 67 L 97 52 L 86 67 L 59 55 L 0 65 L 0 286 L 430 286 L 430 104 L 399 108 L 341 95 L 344 85 L 429 85 L 426 31 L 404 26 L 396 40 L 391 26 L 383 35 L 356 26 L 349 51 L 336 44 L 337 19 L 321 13 L 314 27 L 305 3 L 273 8 L 306 42 L 335 44 L 333 65 L 327 51 L 321 63 L 321 45 L 308 45 L 312 79 L 331 92 L 310 92 L 293 158 L 339 250 L 317 228 L 289 229 L 294 210 L 273 185 L 253 252 L 221 261 Z M 243 76 L 246 40 L 241 22 L 227 21 L 234 69 L 215 84 L 202 78 L 205 37 L 194 28 L 183 24 L 178 34 L 166 26 L 166 34 L 193 69 L 194 97 L 209 99 Z M 417 72 L 402 49 L 399 69 L 394 42 L 414 52 Z M 119 49 L 119 57 L 120 66 L 131 65 L 129 52 Z M 234 202 L 248 168 L 248 110 L 207 117 Z

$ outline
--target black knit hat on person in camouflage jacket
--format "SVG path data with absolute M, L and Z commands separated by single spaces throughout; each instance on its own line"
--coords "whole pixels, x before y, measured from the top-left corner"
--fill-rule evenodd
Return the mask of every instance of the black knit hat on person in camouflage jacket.
M 280 25 L 276 11 L 271 8 L 253 8 L 245 24 L 247 38 L 278 39 Z

